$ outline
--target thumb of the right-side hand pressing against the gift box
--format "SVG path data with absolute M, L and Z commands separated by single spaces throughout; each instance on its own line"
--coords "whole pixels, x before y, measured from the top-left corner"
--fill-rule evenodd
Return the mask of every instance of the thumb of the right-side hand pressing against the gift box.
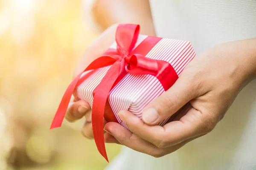
M 175 84 L 149 103 L 142 113 L 143 122 L 157 125 L 172 116 L 190 100 L 198 97 L 198 88 L 187 77 L 180 77 Z

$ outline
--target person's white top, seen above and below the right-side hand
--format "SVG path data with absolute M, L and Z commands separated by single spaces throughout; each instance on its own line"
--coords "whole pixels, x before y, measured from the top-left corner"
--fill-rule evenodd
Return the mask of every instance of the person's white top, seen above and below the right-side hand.
M 151 0 L 157 35 L 188 40 L 197 54 L 256 37 L 256 0 Z M 206 136 L 161 158 L 124 147 L 106 170 L 256 170 L 256 80 Z

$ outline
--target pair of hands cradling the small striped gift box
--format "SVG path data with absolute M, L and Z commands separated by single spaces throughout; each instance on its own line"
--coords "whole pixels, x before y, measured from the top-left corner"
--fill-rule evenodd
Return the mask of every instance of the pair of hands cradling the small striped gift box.
M 85 51 L 76 74 L 111 45 L 115 31 L 116 26 L 111 26 Z M 209 133 L 244 85 L 255 78 L 255 45 L 255 39 L 229 42 L 197 56 L 177 82 L 144 109 L 142 120 L 129 111 L 120 111 L 119 117 L 131 132 L 118 123 L 105 122 L 105 142 L 161 157 Z M 93 138 L 90 114 L 87 102 L 72 99 L 66 119 L 73 122 L 84 116 L 82 133 Z M 157 125 L 169 116 L 171 122 Z

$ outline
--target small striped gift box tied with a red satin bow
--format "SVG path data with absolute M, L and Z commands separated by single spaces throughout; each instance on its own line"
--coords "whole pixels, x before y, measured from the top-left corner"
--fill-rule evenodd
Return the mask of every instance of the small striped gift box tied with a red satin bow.
M 131 111 L 141 118 L 143 108 L 168 90 L 196 55 L 189 41 L 140 35 L 139 28 L 118 26 L 116 42 L 70 83 L 51 126 L 61 126 L 72 94 L 76 100 L 85 100 L 92 108 L 97 148 L 107 160 L 103 119 L 128 129 L 119 111 Z

